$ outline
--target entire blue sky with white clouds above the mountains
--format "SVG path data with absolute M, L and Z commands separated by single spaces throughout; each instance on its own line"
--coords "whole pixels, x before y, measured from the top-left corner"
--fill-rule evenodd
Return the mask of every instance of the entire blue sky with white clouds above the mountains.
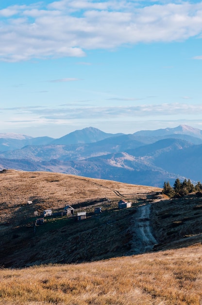
M 0 0 L 0 133 L 202 129 L 202 1 Z

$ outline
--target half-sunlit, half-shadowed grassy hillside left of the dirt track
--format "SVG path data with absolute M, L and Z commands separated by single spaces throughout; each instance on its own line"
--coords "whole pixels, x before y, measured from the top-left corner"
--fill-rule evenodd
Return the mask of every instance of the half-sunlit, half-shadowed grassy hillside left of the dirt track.
M 0 173 L 0 265 L 27 267 L 72 263 L 125 255 L 133 238 L 129 229 L 136 207 L 150 201 L 161 189 L 47 172 Z M 132 208 L 118 210 L 118 201 Z M 27 201 L 33 204 L 28 205 Z M 108 200 L 108 201 L 107 201 Z M 89 205 L 100 201 L 102 213 Z M 81 210 L 87 219 L 46 217 L 34 227 L 34 211 L 62 211 L 65 205 Z M 35 229 L 35 231 L 34 231 Z

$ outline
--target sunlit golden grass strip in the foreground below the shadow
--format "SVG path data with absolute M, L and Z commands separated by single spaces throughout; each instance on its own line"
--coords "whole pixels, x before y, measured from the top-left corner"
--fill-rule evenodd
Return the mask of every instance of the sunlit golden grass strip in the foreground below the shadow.
M 202 245 L 78 265 L 1 269 L 0 304 L 201 305 Z

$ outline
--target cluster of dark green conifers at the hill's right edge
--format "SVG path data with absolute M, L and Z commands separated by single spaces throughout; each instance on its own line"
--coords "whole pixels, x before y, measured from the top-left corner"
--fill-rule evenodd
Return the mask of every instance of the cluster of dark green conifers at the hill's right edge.
M 200 181 L 194 186 L 190 179 L 185 179 L 183 182 L 181 182 L 180 179 L 177 178 L 173 184 L 173 187 L 170 186 L 169 182 L 164 182 L 162 193 L 170 198 L 180 198 L 188 195 L 189 193 L 201 191 L 202 183 Z

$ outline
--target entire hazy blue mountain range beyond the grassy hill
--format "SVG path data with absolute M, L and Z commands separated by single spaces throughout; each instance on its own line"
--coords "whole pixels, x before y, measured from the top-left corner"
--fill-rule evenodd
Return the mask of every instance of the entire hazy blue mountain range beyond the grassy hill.
M 58 139 L 0 133 L 0 169 L 49 171 L 162 187 L 202 181 L 202 131 L 186 125 L 104 133 L 89 127 Z

